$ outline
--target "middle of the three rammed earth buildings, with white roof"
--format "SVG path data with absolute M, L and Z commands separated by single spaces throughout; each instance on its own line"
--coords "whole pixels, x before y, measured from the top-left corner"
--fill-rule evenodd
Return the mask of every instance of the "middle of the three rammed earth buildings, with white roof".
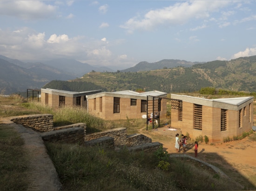
M 138 119 L 142 115 L 166 115 L 167 93 L 161 91 L 135 92 L 130 90 L 102 92 L 87 96 L 88 112 L 105 120 Z

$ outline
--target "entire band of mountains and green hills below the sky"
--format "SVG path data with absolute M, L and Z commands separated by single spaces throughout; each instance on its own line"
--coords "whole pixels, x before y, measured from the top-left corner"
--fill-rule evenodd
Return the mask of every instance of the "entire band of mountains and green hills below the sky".
M 0 94 L 51 88 L 52 81 L 55 85 L 59 81 L 57 87 L 62 89 L 65 86 L 61 81 L 79 82 L 75 86 L 68 83 L 69 89 L 76 87 L 74 91 L 84 90 L 77 88 L 82 82 L 90 83 L 90 87 L 95 84 L 97 89 L 107 91 L 155 89 L 169 92 L 177 88 L 200 89 L 207 86 L 256 91 L 256 56 L 207 63 L 163 59 L 155 63 L 140 62 L 134 67 L 114 72 L 106 67 L 97 68 L 73 59 L 24 63 L 0 55 Z

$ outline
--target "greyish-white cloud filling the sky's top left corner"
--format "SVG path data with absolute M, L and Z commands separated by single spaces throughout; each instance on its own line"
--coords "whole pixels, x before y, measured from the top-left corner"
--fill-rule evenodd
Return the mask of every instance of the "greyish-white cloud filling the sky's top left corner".
M 23 20 L 45 19 L 54 16 L 56 6 L 40 0 L 1 0 L 0 15 L 17 17 Z

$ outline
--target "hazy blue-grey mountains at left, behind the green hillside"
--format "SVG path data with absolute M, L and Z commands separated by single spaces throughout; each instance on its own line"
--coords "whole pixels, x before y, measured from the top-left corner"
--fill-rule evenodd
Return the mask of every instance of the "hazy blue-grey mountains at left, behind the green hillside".
M 55 59 L 44 63 L 25 63 L 0 55 L 0 94 L 40 89 L 52 80 L 71 80 L 90 71 L 113 71 L 96 68 L 72 59 Z

